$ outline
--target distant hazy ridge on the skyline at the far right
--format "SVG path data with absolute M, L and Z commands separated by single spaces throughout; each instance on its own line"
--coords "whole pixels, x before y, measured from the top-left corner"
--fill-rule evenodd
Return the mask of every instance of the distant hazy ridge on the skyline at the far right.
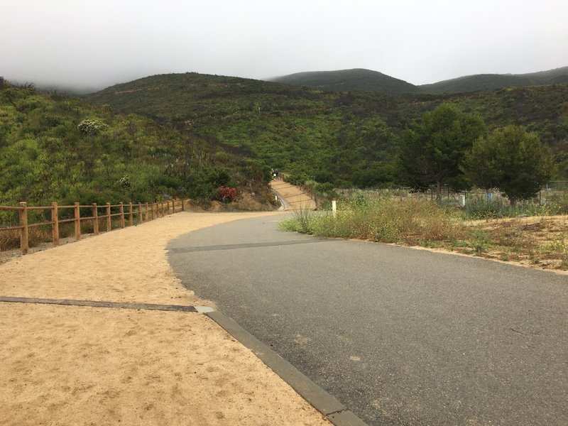
M 423 92 L 458 93 L 495 90 L 504 87 L 540 86 L 546 84 L 568 83 L 568 67 L 555 70 L 532 72 L 530 74 L 479 74 L 444 80 L 433 84 L 418 86 Z

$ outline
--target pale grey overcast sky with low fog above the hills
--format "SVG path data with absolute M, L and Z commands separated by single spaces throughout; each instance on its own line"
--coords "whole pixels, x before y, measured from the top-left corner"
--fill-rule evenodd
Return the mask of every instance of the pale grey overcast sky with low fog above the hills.
M 0 76 L 107 87 L 368 68 L 424 84 L 568 65 L 567 0 L 2 0 Z

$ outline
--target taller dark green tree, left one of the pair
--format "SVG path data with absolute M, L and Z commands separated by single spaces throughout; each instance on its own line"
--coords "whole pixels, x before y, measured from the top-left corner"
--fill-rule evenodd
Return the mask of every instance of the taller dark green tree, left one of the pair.
M 453 190 L 466 188 L 468 182 L 461 162 L 485 132 L 484 122 L 478 116 L 464 114 L 452 104 L 441 104 L 426 112 L 420 126 L 403 136 L 398 163 L 400 179 L 420 190 L 435 185 L 438 201 L 442 198 L 442 185 Z

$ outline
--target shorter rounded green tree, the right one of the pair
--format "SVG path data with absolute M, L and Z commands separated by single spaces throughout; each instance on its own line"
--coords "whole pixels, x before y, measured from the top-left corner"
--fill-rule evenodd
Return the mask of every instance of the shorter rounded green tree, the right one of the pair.
M 528 133 L 522 126 L 506 126 L 474 143 L 463 170 L 474 185 L 498 187 L 515 205 L 517 200 L 534 197 L 550 180 L 553 167 L 550 150 L 537 133 Z

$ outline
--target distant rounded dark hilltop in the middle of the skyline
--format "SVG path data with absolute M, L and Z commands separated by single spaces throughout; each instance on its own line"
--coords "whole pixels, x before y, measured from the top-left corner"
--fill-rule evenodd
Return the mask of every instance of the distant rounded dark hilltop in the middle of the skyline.
M 308 86 L 334 92 L 377 92 L 400 94 L 417 92 L 413 84 L 390 77 L 381 72 L 356 68 L 354 70 L 297 72 L 296 74 L 275 77 L 269 81 L 295 86 Z

